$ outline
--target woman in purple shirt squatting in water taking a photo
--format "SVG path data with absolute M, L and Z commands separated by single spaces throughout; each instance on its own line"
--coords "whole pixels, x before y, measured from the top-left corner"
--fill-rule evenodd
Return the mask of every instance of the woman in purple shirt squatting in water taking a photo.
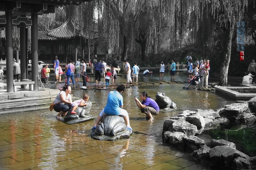
M 142 100 L 142 102 L 140 102 L 137 97 L 134 97 L 137 106 L 140 107 L 141 113 L 146 114 L 146 119 L 148 119 L 148 121 L 153 121 L 154 118 L 152 117 L 152 115 L 156 116 L 159 114 L 159 106 L 157 105 L 155 100 L 151 99 L 148 96 L 147 92 L 142 92 L 140 94 L 140 99 Z

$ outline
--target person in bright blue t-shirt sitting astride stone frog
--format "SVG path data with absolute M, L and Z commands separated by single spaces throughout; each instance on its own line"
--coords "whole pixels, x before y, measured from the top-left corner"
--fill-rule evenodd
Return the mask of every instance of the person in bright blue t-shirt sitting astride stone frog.
M 126 128 L 128 130 L 132 130 L 130 126 L 129 115 L 126 110 L 123 109 L 123 96 L 121 95 L 125 90 L 124 85 L 118 85 L 116 90 L 108 93 L 108 101 L 105 108 L 100 112 L 100 115 L 97 117 L 96 122 L 93 129 L 96 129 L 98 123 L 102 120 L 102 118 L 106 115 L 120 115 L 124 117 L 124 121 L 126 122 Z

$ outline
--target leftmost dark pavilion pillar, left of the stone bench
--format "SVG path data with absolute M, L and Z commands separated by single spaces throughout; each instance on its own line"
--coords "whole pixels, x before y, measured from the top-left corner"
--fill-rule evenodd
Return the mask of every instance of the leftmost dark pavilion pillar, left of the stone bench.
M 7 92 L 14 92 L 13 89 L 13 44 L 12 44 L 12 11 L 5 11 L 5 49 L 6 49 L 6 76 Z

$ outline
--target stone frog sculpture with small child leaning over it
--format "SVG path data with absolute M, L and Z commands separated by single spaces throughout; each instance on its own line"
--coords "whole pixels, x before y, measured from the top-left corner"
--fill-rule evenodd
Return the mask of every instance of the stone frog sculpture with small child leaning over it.
M 92 115 L 89 115 L 92 108 L 92 102 L 87 101 L 87 105 L 84 107 L 78 106 L 75 110 L 76 114 L 71 114 L 72 109 L 70 109 L 67 115 L 64 117 L 64 121 L 67 124 L 75 124 L 86 122 L 94 119 Z

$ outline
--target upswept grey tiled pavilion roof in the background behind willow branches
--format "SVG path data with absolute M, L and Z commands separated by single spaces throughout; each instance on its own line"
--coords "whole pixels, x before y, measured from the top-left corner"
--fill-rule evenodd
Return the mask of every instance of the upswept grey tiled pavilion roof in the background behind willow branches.
M 86 33 L 84 33 L 83 29 L 81 26 L 79 26 L 78 24 L 75 26 L 76 30 L 80 30 L 77 31 L 77 33 L 74 33 L 74 31 L 71 30 L 71 28 L 68 27 L 67 21 L 64 22 L 61 26 L 54 28 L 52 30 L 47 30 L 48 34 L 52 37 L 55 38 L 64 38 L 64 39 L 70 39 L 70 38 L 74 38 L 76 36 L 79 36 L 79 34 L 83 37 L 85 37 L 86 39 L 89 38 L 89 32 L 86 31 Z M 91 39 L 95 39 L 98 38 L 98 33 L 94 32 L 90 35 Z

